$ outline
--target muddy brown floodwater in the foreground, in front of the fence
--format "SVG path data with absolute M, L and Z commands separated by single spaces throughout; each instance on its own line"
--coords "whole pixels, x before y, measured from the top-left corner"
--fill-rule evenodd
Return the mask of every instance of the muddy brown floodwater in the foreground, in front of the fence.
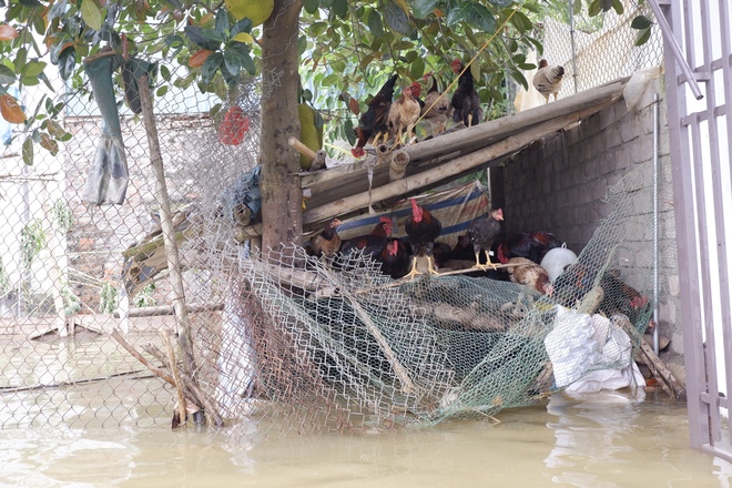
M 226 444 L 164 427 L 0 430 L 3 487 L 729 487 L 662 393 L 568 397 L 407 431 Z

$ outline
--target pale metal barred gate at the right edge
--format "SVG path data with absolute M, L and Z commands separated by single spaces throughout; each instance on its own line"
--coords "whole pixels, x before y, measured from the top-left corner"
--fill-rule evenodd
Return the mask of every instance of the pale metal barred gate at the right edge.
M 681 319 L 693 447 L 732 459 L 729 0 L 651 0 L 664 32 Z M 659 6 L 660 3 L 660 6 Z M 664 23 L 668 21 L 668 24 Z

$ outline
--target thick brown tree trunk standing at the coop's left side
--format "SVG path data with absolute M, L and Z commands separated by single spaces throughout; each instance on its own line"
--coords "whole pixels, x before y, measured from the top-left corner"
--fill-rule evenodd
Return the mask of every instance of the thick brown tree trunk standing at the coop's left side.
M 299 138 L 297 85 L 302 0 L 275 0 L 262 35 L 262 248 L 302 244 L 303 191 L 299 154 L 287 142 Z

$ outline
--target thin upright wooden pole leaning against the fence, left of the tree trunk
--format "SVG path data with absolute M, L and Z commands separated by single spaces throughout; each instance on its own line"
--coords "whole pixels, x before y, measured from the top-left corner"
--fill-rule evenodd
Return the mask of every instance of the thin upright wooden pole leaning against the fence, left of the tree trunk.
M 181 349 L 183 350 L 184 370 L 189 375 L 192 375 L 195 370 L 195 363 L 193 360 L 193 345 L 191 343 L 189 316 L 185 309 L 183 274 L 181 273 L 181 262 L 177 254 L 177 246 L 175 244 L 175 231 L 171 220 L 170 199 L 167 196 L 167 186 L 165 184 L 165 170 L 163 167 L 163 157 L 160 151 L 152 95 L 150 94 L 146 74 L 143 74 L 138 79 L 138 88 L 140 91 L 140 102 L 142 104 L 142 119 L 145 123 L 148 144 L 150 145 L 150 164 L 153 167 L 155 180 L 157 181 L 156 199 L 160 204 L 161 227 L 163 230 L 165 254 L 167 255 L 167 268 L 170 270 L 170 279 L 173 287 L 173 308 L 175 309 L 177 337 L 179 343 L 181 344 Z

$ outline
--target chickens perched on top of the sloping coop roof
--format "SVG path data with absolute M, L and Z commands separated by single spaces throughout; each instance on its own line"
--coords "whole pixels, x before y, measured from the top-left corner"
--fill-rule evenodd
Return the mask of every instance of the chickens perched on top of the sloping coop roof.
M 414 128 L 420 119 L 429 122 L 433 134 L 437 135 L 445 131 L 448 119 L 456 123 L 462 123 L 469 128 L 479 124 L 484 116 L 480 106 L 480 96 L 475 89 L 475 80 L 470 67 L 462 61 L 455 60 L 450 65 L 453 72 L 458 75 L 457 89 L 448 101 L 440 92 L 437 80 L 427 73 L 425 80 L 431 78 L 431 88 L 423 101 L 419 95 L 421 85 L 414 81 L 401 90 L 397 100 L 394 99 L 394 88 L 398 75 L 389 78 L 376 95 L 368 102 L 368 110 L 362 114 L 356 128 L 356 146 L 350 150 L 355 157 L 363 157 L 366 152 L 364 148 L 368 142 L 377 146 L 379 141 L 394 140 L 394 145 L 404 144 L 413 139 Z M 532 84 L 541 93 L 546 101 L 561 90 L 561 81 L 565 75 L 562 67 L 549 65 L 546 59 L 539 63 L 539 69 L 533 75 Z

